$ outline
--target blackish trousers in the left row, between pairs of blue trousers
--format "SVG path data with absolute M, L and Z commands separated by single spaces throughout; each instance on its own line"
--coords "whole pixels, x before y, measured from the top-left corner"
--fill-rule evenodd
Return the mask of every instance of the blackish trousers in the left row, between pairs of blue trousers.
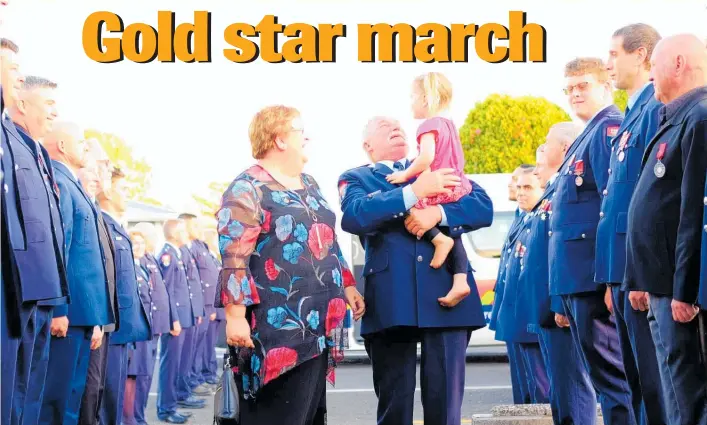
M 103 334 L 101 346 L 91 350 L 86 374 L 86 389 L 81 398 L 79 425 L 98 425 L 101 401 L 105 391 L 106 366 L 108 363 L 108 336 Z

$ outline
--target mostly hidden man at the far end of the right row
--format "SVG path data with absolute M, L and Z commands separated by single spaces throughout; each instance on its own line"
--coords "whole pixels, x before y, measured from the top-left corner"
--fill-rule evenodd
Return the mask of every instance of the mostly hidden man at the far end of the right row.
M 513 202 L 518 200 L 516 196 L 516 182 L 518 181 L 518 176 L 520 176 L 521 172 L 532 169 L 533 166 L 530 164 L 521 164 L 513 171 L 511 174 L 511 180 L 508 182 L 508 200 Z M 489 320 L 489 329 L 492 331 L 496 331 L 498 326 L 499 308 L 503 302 L 503 294 L 505 292 L 505 276 L 510 265 L 510 257 L 512 256 L 511 240 L 514 240 L 518 236 L 524 215 L 525 213 L 523 210 L 516 208 L 515 219 L 511 223 L 511 227 L 508 230 L 508 234 L 503 242 L 503 247 L 501 248 L 501 259 L 498 264 L 496 283 L 493 288 L 494 297 L 493 305 L 491 306 L 491 317 Z M 525 381 L 525 365 L 523 363 L 523 355 L 520 352 L 520 346 L 518 344 L 506 342 L 506 352 L 508 353 L 508 364 L 511 369 L 513 403 L 529 404 L 531 398 L 530 388 Z

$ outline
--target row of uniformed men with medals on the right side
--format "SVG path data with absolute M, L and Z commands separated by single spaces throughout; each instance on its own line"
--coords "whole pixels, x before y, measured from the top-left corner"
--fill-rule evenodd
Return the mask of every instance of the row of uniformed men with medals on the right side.
M 598 401 L 609 425 L 706 425 L 707 48 L 633 24 L 608 53 L 565 67 L 584 128 L 556 124 L 513 173 L 490 327 L 515 402 L 555 424 L 594 425 Z

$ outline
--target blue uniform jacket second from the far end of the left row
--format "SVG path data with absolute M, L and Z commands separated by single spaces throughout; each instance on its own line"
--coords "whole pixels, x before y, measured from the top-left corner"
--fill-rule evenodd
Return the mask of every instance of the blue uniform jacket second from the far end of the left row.
M 167 293 L 172 297 L 177 311 L 177 316 L 172 316 L 172 321 L 179 320 L 182 329 L 186 329 L 193 326 L 194 316 L 191 313 L 187 271 L 181 256 L 178 248 L 166 243 L 160 252 L 159 264 Z

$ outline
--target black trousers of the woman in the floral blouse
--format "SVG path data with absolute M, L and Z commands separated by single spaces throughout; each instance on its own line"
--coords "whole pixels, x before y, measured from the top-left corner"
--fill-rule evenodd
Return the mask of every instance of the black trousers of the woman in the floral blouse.
M 268 382 L 245 400 L 240 376 L 241 425 L 326 425 L 326 351 Z

